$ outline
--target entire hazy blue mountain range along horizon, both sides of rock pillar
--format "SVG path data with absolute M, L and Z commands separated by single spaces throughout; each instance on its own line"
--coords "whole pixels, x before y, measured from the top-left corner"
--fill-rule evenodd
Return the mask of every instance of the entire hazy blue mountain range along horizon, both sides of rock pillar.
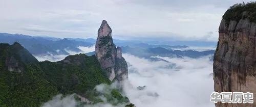
M 13 44 L 14 42 L 22 44 L 33 55 L 70 55 L 69 51 L 75 53 L 82 52 L 79 46 L 93 46 L 96 39 L 88 38 L 53 38 L 53 37 L 34 37 L 20 34 L 0 33 L 0 42 Z M 143 58 L 151 56 L 161 57 L 190 57 L 199 58 L 202 56 L 213 55 L 215 50 L 191 50 L 187 45 L 166 45 L 147 43 L 142 41 L 118 40 L 113 39 L 116 46 L 122 48 L 123 53 Z M 179 50 L 180 49 L 180 50 Z M 86 53 L 89 56 L 94 55 L 94 51 Z

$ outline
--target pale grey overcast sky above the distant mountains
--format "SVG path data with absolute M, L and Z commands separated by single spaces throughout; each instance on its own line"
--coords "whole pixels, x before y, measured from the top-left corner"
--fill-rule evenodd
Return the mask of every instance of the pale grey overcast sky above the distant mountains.
M 221 16 L 242 0 L 0 0 L 0 32 L 96 38 L 107 20 L 118 39 L 217 41 Z M 245 1 L 248 2 L 248 1 Z

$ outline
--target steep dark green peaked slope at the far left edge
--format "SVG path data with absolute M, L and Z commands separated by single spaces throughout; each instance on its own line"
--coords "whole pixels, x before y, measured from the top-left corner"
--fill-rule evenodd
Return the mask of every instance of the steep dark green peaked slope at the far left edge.
M 0 106 L 40 106 L 58 93 L 19 43 L 0 44 Z

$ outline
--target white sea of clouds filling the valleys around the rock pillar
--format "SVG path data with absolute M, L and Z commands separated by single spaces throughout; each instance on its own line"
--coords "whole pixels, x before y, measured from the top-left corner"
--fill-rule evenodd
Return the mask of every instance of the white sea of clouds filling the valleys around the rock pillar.
M 94 47 L 83 47 L 83 52 L 94 51 Z M 70 54 L 75 54 L 70 52 Z M 58 61 L 65 55 L 38 57 L 39 61 Z M 212 56 L 198 59 L 168 58 L 153 56 L 165 61 L 152 61 L 124 53 L 123 57 L 129 65 L 129 80 L 123 83 L 123 95 L 137 107 L 213 107 L 210 94 L 214 92 L 212 79 Z M 59 58 L 59 59 L 56 59 Z M 95 88 L 104 91 L 99 85 Z M 143 90 L 137 87 L 146 86 Z M 101 90 L 100 90 L 101 89 Z M 42 107 L 75 107 L 79 102 L 74 94 L 57 95 L 52 100 L 42 104 Z M 85 105 L 90 107 L 113 107 L 108 102 Z M 124 106 L 124 104 L 116 105 Z

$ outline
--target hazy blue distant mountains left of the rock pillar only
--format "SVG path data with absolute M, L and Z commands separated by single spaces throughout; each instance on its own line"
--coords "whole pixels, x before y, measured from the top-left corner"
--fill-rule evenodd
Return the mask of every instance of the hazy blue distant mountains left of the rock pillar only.
M 33 55 L 52 53 L 53 55 L 69 55 L 67 50 L 81 51 L 78 46 L 92 46 L 94 39 L 72 39 L 33 37 L 28 35 L 0 33 L 0 42 L 13 44 L 19 42 Z M 93 42 L 93 43 L 92 43 Z

